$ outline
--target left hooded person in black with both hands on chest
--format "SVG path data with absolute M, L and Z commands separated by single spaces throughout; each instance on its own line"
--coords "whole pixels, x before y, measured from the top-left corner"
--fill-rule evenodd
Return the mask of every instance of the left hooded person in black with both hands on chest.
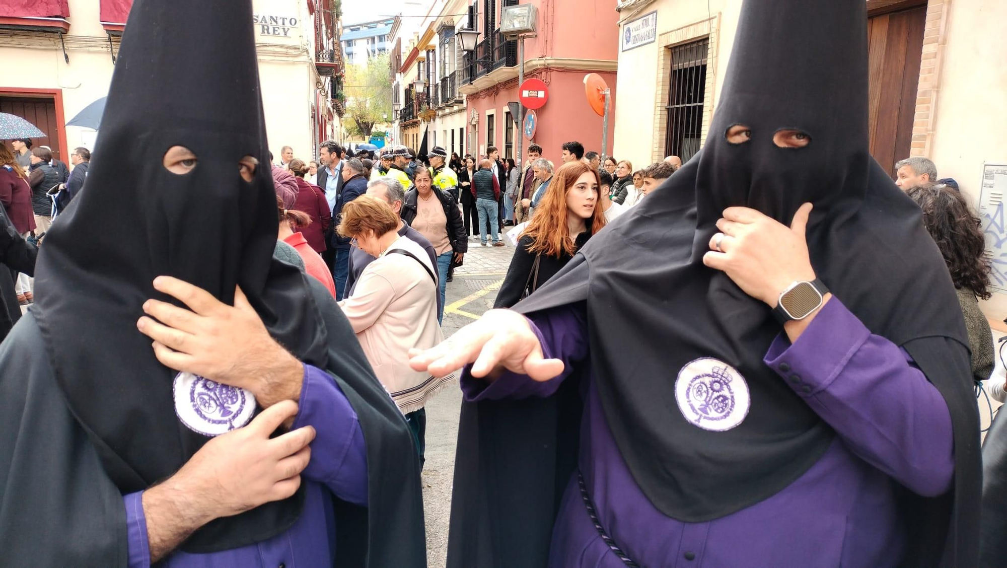
M 124 566 L 177 547 L 173 566 L 194 553 L 217 555 L 199 565 L 426 565 L 408 426 L 330 295 L 272 256 L 276 194 L 251 20 L 249 0 L 133 6 L 89 191 L 46 236 L 38 303 L 0 347 L 4 564 Z M 173 278 L 155 289 L 158 276 Z M 182 322 L 222 313 L 247 317 L 221 325 L 227 348 L 212 357 L 260 366 L 244 377 L 189 371 L 205 334 L 186 335 Z M 258 331 L 258 364 L 239 328 Z M 293 373 L 270 375 L 278 361 Z M 281 379 L 282 396 L 266 397 L 268 380 Z M 264 426 L 288 416 L 286 434 Z M 310 462 L 297 451 L 306 426 L 317 432 Z M 214 452 L 237 459 L 267 445 L 286 461 L 257 459 L 288 477 L 256 503 L 152 513 L 148 495 L 178 489 L 173 479 L 234 484 L 227 468 L 207 471 Z M 257 482 L 254 468 L 232 475 Z

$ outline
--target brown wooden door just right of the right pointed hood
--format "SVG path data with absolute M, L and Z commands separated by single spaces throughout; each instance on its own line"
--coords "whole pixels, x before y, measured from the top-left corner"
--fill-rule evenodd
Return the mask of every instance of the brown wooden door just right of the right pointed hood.
M 909 156 L 926 6 L 867 20 L 871 155 L 890 175 Z

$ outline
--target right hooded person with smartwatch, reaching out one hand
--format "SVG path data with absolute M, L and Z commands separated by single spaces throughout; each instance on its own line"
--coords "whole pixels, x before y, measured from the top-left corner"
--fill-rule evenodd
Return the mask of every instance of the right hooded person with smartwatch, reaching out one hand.
M 866 22 L 746 0 L 701 152 L 414 359 L 474 363 L 449 566 L 975 564 L 966 330 L 868 152 Z

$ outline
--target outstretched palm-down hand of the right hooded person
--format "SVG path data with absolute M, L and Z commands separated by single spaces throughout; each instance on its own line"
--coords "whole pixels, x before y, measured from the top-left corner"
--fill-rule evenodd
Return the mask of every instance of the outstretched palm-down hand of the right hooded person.
M 542 345 L 524 315 L 509 309 L 491 309 L 450 339 L 427 350 L 410 349 L 409 365 L 442 377 L 472 365 L 472 377 L 490 380 L 503 369 L 548 381 L 563 372 L 563 362 L 543 359 Z

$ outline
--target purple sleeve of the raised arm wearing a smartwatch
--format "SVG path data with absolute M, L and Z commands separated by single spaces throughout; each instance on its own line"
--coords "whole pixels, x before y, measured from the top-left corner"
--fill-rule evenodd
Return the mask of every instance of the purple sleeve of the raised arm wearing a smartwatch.
M 780 333 L 764 361 L 861 459 L 924 496 L 951 485 L 944 398 L 904 349 L 871 334 L 839 299 L 794 344 Z

